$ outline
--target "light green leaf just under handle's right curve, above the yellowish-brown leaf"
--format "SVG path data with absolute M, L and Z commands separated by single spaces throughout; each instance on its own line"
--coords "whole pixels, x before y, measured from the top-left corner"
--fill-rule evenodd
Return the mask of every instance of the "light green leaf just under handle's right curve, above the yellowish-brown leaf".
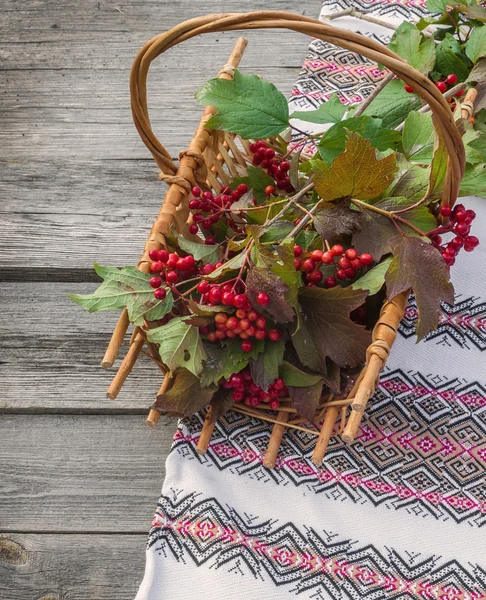
M 382 119 L 383 127 L 391 129 L 402 123 L 411 110 L 420 108 L 416 94 L 404 90 L 403 82 L 392 79 L 371 102 L 364 114 Z

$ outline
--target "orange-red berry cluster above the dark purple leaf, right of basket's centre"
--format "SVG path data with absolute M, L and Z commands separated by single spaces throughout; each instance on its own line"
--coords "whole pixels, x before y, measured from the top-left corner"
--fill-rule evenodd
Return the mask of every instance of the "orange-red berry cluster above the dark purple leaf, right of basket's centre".
M 335 244 L 327 252 L 313 250 L 305 254 L 300 246 L 294 246 L 294 256 L 295 268 L 305 273 L 306 285 L 309 287 L 313 287 L 322 281 L 323 275 L 319 270 L 322 264 L 335 264 L 337 259 L 336 276 L 330 275 L 324 280 L 324 287 L 332 288 L 337 285 L 337 279 L 353 279 L 357 271 L 369 267 L 373 262 L 371 254 L 365 253 L 358 256 L 354 248 L 344 250 L 341 244 Z

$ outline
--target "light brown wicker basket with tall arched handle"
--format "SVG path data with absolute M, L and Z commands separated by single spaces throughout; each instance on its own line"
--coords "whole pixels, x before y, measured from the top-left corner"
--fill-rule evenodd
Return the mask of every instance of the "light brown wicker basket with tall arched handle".
M 138 263 L 138 268 L 141 271 L 149 272 L 150 260 L 148 254 L 150 250 L 160 250 L 167 247 L 164 236 L 167 235 L 171 225 L 176 224 L 183 236 L 198 241 L 196 236 L 189 233 L 188 228 L 190 223 L 188 197 L 192 186 L 198 185 L 203 189 L 214 190 L 219 193 L 221 187 L 228 185 L 233 177 L 246 174 L 247 165 L 251 164 L 252 159 L 248 141 L 242 140 L 234 134 L 205 129 L 205 123 L 215 112 L 211 107 L 207 107 L 189 148 L 180 153 L 180 163 L 177 167 L 164 146 L 155 137 L 150 126 L 146 93 L 146 81 L 150 64 L 169 48 L 202 33 L 262 28 L 286 28 L 298 31 L 357 52 L 371 60 L 380 62 L 405 83 L 412 86 L 417 94 L 429 104 L 434 115 L 436 131 L 443 138 L 448 151 L 449 162 L 442 204 L 452 206 L 457 198 L 459 184 L 465 168 L 465 154 L 461 134 L 455 125 L 451 109 L 442 94 L 429 79 L 410 67 L 402 58 L 378 42 L 360 34 L 341 30 L 301 15 L 279 11 L 208 15 L 185 21 L 170 31 L 153 38 L 143 46 L 133 63 L 130 77 L 133 119 L 140 137 L 162 170 L 160 178 L 169 184 L 164 202 L 153 224 L 142 258 Z M 218 77 L 232 78 L 234 69 L 238 66 L 243 55 L 246 43 L 243 38 L 237 41 L 228 62 L 219 72 Z M 468 97 L 466 97 L 466 100 L 468 100 Z M 465 109 L 467 109 L 467 105 L 468 102 L 465 102 L 465 105 L 463 105 Z M 267 407 L 252 409 L 246 406 L 235 406 L 235 410 L 274 423 L 264 459 L 265 466 L 272 467 L 275 465 L 282 435 L 286 427 L 301 429 L 316 436 L 317 443 L 313 454 L 315 464 L 322 462 L 339 414 L 341 414 L 340 433 L 342 439 L 346 442 L 354 439 L 363 411 L 369 398 L 374 393 L 380 370 L 385 365 L 395 340 L 398 324 L 406 308 L 407 298 L 408 293 L 402 293 L 391 302 L 384 304 L 381 316 L 373 330 L 373 341 L 367 351 L 366 365 L 356 379 L 353 389 L 346 399 L 335 400 L 332 396 L 323 396 L 321 406 L 314 420 L 316 429 L 305 426 L 306 420 L 296 414 L 295 409 L 290 406 L 289 399 L 284 399 L 276 413 L 270 411 Z M 115 328 L 102 361 L 104 367 L 113 365 L 128 325 L 128 316 L 125 310 Z M 153 344 L 147 343 L 142 330 L 135 328 L 129 351 L 108 389 L 107 395 L 109 398 L 116 398 L 145 344 L 147 344 L 151 355 L 158 360 L 157 348 Z M 164 372 L 164 366 L 160 362 L 158 364 Z M 159 393 L 166 391 L 172 382 L 172 378 L 165 377 Z M 160 413 L 152 409 L 147 423 L 155 426 L 159 417 Z M 213 428 L 214 420 L 209 410 L 199 438 L 199 452 L 202 453 L 207 449 Z

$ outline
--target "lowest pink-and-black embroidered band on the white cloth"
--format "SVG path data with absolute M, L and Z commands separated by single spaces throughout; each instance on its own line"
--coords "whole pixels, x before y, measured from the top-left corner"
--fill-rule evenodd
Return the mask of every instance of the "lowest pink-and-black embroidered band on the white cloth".
M 486 598 L 486 571 L 457 561 L 398 552 L 342 539 L 331 531 L 297 528 L 277 519 L 238 514 L 215 498 L 162 496 L 148 547 L 198 567 L 270 580 L 313 599 L 376 600 Z M 312 594 L 312 595 L 309 595 Z M 217 597 L 217 596 L 215 596 Z

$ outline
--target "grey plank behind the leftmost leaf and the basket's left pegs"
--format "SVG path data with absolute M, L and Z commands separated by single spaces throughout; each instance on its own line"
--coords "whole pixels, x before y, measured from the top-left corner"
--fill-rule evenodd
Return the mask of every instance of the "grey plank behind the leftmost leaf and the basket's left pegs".
M 106 398 L 116 369 L 102 369 L 100 361 L 119 312 L 90 314 L 67 297 L 95 287 L 72 283 L 0 286 L 0 412 L 148 413 L 162 374 L 145 356 L 137 361 L 118 398 Z M 122 356 L 128 343 L 129 335 Z

